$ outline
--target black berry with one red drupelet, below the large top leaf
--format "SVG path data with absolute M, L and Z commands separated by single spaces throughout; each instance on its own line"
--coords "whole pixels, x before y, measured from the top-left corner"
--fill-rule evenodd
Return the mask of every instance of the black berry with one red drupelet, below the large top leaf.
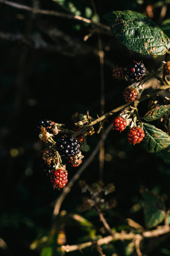
M 132 80 L 140 80 L 145 75 L 145 66 L 142 62 L 134 61 L 134 63 L 127 67 L 126 73 Z

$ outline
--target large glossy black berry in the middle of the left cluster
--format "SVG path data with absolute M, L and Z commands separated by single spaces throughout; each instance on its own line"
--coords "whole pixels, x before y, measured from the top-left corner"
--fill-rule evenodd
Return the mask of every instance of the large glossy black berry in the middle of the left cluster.
M 56 142 L 56 151 L 59 155 L 64 155 L 66 158 L 75 157 L 80 151 L 78 139 L 74 137 L 62 136 Z

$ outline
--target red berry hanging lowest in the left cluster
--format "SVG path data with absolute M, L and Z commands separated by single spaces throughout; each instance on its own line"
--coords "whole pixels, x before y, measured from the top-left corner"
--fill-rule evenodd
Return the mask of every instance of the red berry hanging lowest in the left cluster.
M 67 175 L 68 175 L 67 171 L 64 171 L 62 169 L 53 171 L 50 174 L 51 183 L 52 183 L 53 187 L 54 188 L 65 187 L 66 183 L 68 182 Z

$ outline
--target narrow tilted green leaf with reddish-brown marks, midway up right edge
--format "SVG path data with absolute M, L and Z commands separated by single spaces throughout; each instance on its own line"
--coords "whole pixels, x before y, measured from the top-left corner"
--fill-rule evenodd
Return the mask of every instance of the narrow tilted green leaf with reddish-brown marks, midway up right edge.
M 145 114 L 144 120 L 149 122 L 149 121 L 154 121 L 154 120 L 160 119 L 166 113 L 168 113 L 169 110 L 170 110 L 170 105 L 162 105 L 159 107 L 155 107 L 154 109 L 148 111 Z

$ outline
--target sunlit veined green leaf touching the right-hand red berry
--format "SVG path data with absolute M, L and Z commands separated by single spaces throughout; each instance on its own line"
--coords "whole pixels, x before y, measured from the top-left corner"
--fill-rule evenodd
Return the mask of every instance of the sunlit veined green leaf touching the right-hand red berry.
M 143 129 L 145 132 L 143 146 L 148 152 L 158 153 L 170 146 L 170 137 L 167 133 L 149 123 L 143 123 Z

